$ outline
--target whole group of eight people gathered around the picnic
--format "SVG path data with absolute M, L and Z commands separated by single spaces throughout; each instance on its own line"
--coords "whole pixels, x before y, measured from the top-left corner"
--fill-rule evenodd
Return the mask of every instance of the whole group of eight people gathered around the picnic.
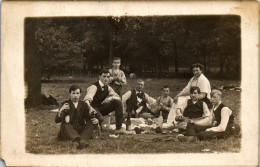
M 115 134 L 133 134 L 122 128 L 124 115 L 132 118 L 156 118 L 162 112 L 169 126 L 179 127 L 189 139 L 225 138 L 233 134 L 232 110 L 221 102 L 222 93 L 212 90 L 208 79 L 203 75 L 201 64 L 192 65 L 194 76 L 188 85 L 172 99 L 170 88 L 164 86 L 157 99 L 144 90 L 144 81 L 137 80 L 136 87 L 122 95 L 122 87 L 127 83 L 125 74 L 119 69 L 121 60 L 113 58 L 110 70 L 101 70 L 99 80 L 87 88 L 83 101 L 82 90 L 77 85 L 69 88 L 70 99 L 62 102 L 55 122 L 61 123 L 58 138 L 70 140 L 73 149 L 88 146 L 94 127 L 103 121 L 103 116 L 115 113 Z

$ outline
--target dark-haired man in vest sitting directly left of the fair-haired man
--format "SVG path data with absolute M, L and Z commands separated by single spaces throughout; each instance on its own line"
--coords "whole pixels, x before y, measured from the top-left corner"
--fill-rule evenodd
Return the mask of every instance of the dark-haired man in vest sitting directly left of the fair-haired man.
M 200 89 L 198 87 L 191 87 L 190 97 L 177 109 L 175 120 L 178 121 L 176 125 L 181 129 L 186 129 L 188 122 L 192 121 L 197 125 L 209 125 L 210 113 L 205 102 L 198 98 Z M 182 112 L 183 111 L 183 112 Z

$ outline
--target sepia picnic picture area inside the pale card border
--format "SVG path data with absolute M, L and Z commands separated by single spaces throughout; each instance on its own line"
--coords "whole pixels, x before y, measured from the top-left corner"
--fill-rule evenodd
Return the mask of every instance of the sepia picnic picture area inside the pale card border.
M 239 152 L 240 24 L 236 15 L 27 18 L 26 151 Z

